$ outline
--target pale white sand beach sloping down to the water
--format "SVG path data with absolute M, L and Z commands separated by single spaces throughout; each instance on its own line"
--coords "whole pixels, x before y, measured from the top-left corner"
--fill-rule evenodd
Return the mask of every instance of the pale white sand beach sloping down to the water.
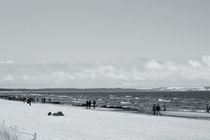
M 47 116 L 49 111 L 65 116 Z M 210 120 L 7 100 L 0 100 L 0 112 L 0 121 L 26 135 L 37 133 L 38 140 L 210 140 Z

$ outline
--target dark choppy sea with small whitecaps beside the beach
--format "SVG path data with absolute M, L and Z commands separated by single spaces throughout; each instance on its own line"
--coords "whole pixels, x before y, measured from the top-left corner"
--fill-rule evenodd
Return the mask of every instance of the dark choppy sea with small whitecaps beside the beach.
M 175 92 L 100 92 L 100 91 L 0 91 L 1 96 L 33 97 L 61 105 L 84 106 L 95 100 L 97 107 L 120 111 L 151 113 L 153 104 L 165 105 L 170 111 L 205 112 L 210 91 Z

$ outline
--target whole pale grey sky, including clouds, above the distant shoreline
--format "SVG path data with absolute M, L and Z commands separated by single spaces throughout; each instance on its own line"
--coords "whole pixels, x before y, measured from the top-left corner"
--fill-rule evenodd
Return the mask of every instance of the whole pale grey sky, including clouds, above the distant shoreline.
M 0 87 L 209 86 L 209 0 L 0 0 Z

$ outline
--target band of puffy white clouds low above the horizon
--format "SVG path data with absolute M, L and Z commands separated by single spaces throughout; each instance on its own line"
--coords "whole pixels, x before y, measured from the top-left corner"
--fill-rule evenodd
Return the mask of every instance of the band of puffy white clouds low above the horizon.
M 77 64 L 0 61 L 0 86 L 10 88 L 148 88 L 209 83 L 207 55 L 185 63 L 143 58 Z

